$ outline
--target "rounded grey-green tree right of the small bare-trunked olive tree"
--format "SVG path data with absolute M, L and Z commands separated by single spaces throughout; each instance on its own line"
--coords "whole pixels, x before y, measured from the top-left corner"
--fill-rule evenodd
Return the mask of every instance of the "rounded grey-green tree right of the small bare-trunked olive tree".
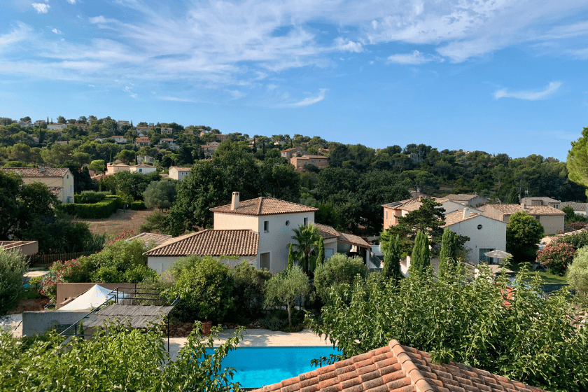
M 349 258 L 337 253 L 327 262 L 316 267 L 314 271 L 316 295 L 323 303 L 329 302 L 332 295 L 344 297 L 344 293 L 349 292 L 353 281 L 365 280 L 366 276 L 367 267 L 363 264 L 362 258 Z

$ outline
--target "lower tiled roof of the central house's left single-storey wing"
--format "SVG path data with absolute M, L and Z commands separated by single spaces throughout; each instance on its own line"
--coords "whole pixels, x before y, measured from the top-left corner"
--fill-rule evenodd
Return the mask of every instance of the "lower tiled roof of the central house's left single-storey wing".
M 252 230 L 204 230 L 170 239 L 143 253 L 148 256 L 258 254 L 259 234 Z

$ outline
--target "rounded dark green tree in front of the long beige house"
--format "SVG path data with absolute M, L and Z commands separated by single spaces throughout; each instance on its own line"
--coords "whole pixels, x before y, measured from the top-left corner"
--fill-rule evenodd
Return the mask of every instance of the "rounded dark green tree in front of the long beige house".
M 533 260 L 544 234 L 542 225 L 533 216 L 526 211 L 515 212 L 506 225 L 506 251 L 517 262 Z

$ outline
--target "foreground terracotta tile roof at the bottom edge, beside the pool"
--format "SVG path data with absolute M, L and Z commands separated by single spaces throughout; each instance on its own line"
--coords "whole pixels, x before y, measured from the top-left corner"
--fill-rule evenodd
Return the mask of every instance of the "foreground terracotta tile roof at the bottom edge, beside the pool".
M 437 365 L 424 351 L 391 340 L 388 346 L 285 379 L 254 392 L 541 392 L 461 363 Z

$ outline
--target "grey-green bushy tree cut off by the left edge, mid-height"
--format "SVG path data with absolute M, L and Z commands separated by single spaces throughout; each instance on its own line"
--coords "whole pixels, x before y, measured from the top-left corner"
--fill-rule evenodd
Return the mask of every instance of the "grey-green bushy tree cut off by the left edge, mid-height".
M 6 251 L 0 246 L 0 316 L 15 307 L 22 297 L 22 275 L 27 267 L 27 260 L 20 252 Z

